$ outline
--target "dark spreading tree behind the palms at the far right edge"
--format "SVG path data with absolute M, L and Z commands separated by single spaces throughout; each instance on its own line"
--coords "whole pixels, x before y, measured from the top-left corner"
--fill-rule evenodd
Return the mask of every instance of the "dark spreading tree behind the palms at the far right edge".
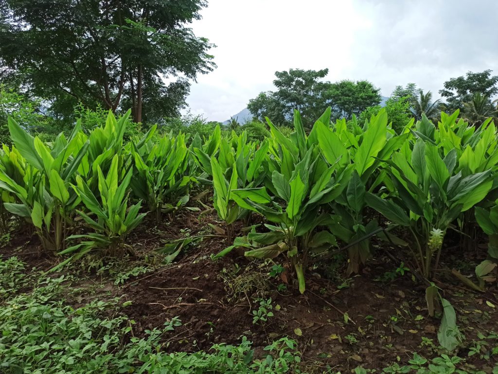
M 462 109 L 464 103 L 470 103 L 476 93 L 488 98 L 498 93 L 498 75 L 491 75 L 492 70 L 482 73 L 467 72 L 465 76 L 451 78 L 444 83 L 439 94 L 446 98 L 448 110 Z M 491 100 L 490 100 L 491 102 Z

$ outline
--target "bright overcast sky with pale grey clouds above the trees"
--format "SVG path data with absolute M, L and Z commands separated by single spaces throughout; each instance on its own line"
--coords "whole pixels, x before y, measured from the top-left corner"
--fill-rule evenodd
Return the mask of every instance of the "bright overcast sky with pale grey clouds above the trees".
M 416 83 L 436 98 L 467 71 L 498 74 L 497 0 L 209 0 L 191 24 L 217 68 L 193 82 L 190 112 L 225 121 L 274 89 L 275 71 L 329 69 L 390 96 Z

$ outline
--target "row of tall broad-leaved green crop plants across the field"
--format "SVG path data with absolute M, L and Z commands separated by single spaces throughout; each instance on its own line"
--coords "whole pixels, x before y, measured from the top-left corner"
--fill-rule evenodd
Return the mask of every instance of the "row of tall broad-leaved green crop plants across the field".
M 32 137 L 9 119 L 13 145 L 0 152 L 0 228 L 12 215 L 28 222 L 42 247 L 59 264 L 90 251 L 119 256 L 126 236 L 146 215 L 174 220 L 194 196 L 213 192 L 227 243 L 217 256 L 244 248 L 253 258 L 282 257 L 301 293 L 312 264 L 347 251 L 349 274 L 373 255 L 373 238 L 404 250 L 417 281 L 426 285 L 430 315 L 441 313 L 441 345 L 457 344 L 455 312 L 432 282 L 447 255 L 452 230 L 461 243 L 476 239 L 476 223 L 489 236 L 488 259 L 474 280 L 481 290 L 498 262 L 497 129 L 476 128 L 441 114 L 437 125 L 423 117 L 395 133 L 385 111 L 359 124 L 331 124 L 330 109 L 311 129 L 294 114 L 294 132 L 284 136 L 268 121 L 271 136 L 248 142 L 247 134 L 207 139 L 197 134 L 156 134 L 123 140 L 126 116 L 112 113 L 84 133 L 78 123 L 51 143 Z M 209 192 L 208 192 L 209 195 Z M 264 224 L 258 217 L 265 218 Z M 258 218 L 256 220 L 256 218 Z M 242 224 L 240 224 L 242 223 Z M 82 226 L 84 230 L 82 231 Z M 240 230 L 240 227 L 243 230 Z

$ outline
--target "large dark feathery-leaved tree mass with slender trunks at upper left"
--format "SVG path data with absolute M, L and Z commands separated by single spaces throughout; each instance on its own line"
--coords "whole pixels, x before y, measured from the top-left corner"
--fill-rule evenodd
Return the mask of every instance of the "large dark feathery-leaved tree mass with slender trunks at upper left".
M 0 61 L 25 74 L 38 97 L 61 114 L 82 102 L 134 122 L 177 115 L 186 79 L 212 71 L 212 44 L 186 24 L 204 0 L 2 0 Z M 178 74 L 177 79 L 167 85 Z M 153 114 L 153 112 L 155 112 Z

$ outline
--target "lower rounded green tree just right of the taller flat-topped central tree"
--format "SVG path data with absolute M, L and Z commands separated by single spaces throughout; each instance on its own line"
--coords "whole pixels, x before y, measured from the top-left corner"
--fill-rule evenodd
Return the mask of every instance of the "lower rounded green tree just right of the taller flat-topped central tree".
M 330 85 L 328 97 L 335 117 L 349 120 L 353 115 L 359 116 L 368 107 L 378 105 L 379 91 L 369 81 L 343 80 Z

